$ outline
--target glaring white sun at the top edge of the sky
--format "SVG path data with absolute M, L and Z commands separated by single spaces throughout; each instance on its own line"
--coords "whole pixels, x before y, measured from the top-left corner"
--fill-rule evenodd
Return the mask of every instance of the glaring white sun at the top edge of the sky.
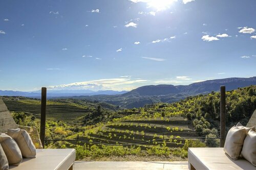
M 157 11 L 162 11 L 162 10 L 166 10 L 167 8 L 170 8 L 170 6 L 175 1 L 176 0 L 148 0 L 147 8 L 156 8 Z

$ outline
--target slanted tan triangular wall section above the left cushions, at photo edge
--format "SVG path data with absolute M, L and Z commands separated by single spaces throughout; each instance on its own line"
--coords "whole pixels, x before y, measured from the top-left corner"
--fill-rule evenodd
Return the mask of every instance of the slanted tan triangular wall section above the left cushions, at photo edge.
M 11 128 L 15 129 L 17 125 L 0 97 L 0 132 L 7 132 L 7 130 Z

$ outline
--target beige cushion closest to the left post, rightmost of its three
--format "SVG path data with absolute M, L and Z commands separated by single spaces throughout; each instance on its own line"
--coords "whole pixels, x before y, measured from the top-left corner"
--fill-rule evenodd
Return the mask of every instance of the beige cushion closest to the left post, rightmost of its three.
M 35 158 L 36 149 L 35 145 L 28 132 L 25 130 L 18 129 L 8 129 L 7 134 L 11 136 L 18 144 L 22 156 L 25 158 Z

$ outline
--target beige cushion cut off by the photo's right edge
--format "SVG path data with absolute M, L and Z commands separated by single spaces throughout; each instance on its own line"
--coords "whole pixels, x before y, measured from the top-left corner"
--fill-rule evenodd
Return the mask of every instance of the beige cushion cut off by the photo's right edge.
M 256 166 L 256 132 L 250 130 L 244 139 L 242 156 Z

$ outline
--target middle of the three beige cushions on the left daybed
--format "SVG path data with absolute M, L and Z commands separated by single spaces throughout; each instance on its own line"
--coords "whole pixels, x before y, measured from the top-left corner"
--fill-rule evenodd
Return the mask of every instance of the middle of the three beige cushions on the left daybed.
M 18 144 L 10 136 L 0 133 L 0 144 L 8 159 L 9 165 L 17 166 L 22 162 L 22 152 L 18 148 Z

